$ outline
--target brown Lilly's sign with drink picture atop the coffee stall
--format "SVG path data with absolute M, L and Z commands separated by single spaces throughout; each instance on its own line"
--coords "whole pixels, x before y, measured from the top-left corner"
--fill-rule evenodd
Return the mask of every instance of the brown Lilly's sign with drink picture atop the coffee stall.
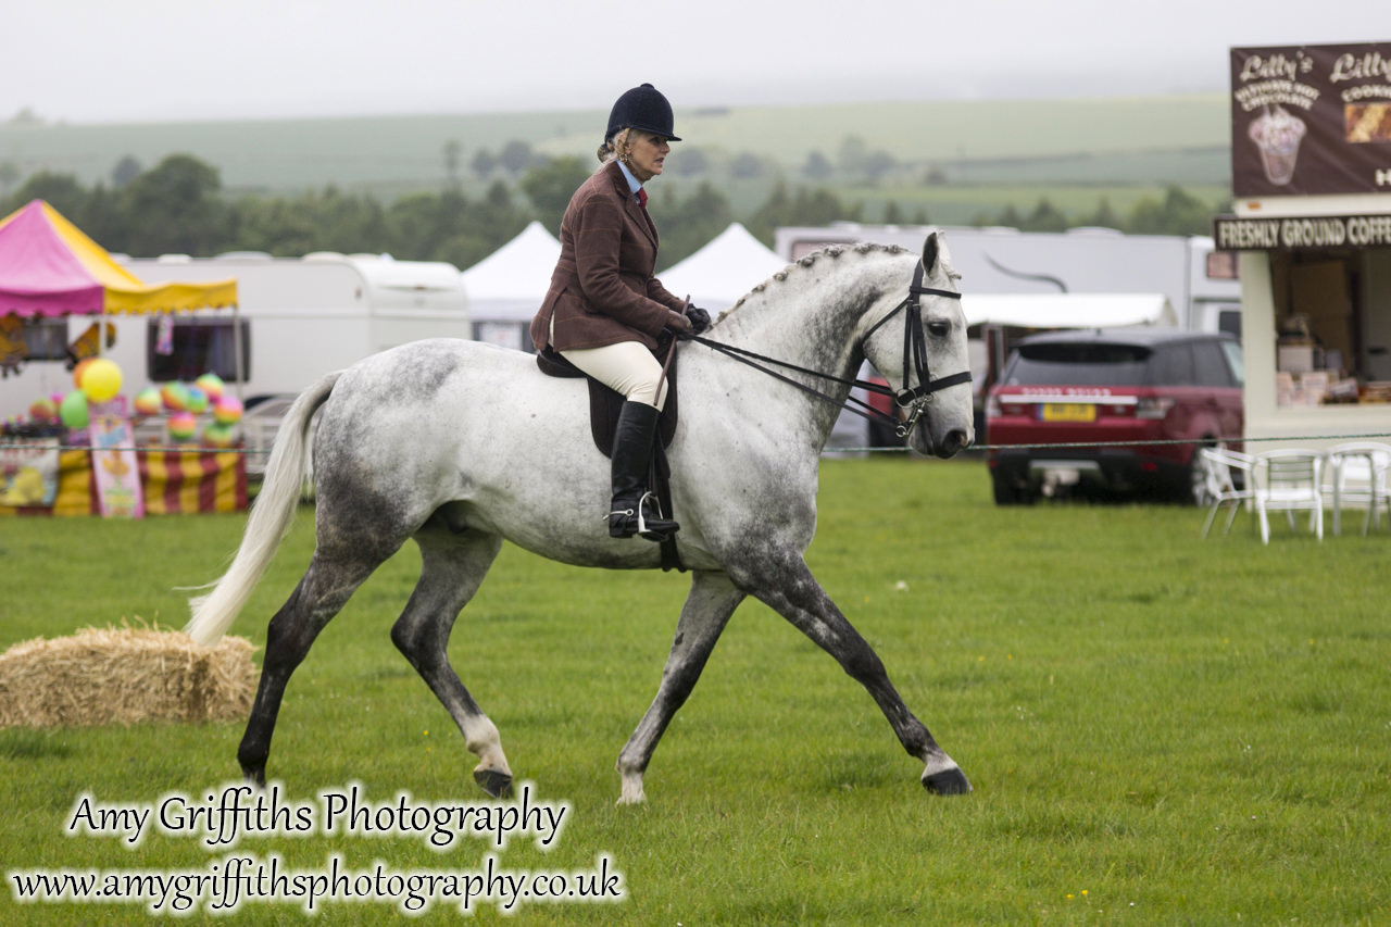
M 1391 193 L 1391 42 L 1232 49 L 1231 188 Z

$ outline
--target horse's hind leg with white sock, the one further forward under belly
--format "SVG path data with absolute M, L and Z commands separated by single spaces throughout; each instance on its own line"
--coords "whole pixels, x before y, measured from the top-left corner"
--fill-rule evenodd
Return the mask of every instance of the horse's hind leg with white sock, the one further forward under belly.
M 512 791 L 512 770 L 502 754 L 498 729 L 463 688 L 447 653 L 453 622 L 483 583 L 502 540 L 474 530 L 456 534 L 430 526 L 416 534 L 416 543 L 421 555 L 420 580 L 391 628 L 391 640 L 449 711 L 465 746 L 477 754 L 474 781 L 488 795 L 504 798 Z

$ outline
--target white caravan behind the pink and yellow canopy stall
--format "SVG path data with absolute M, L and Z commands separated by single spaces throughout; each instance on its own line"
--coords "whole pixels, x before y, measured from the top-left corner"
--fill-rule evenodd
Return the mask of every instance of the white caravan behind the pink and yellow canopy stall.
M 339 253 L 289 259 L 259 252 L 113 258 L 145 283 L 235 278 L 238 292 L 232 309 L 46 322 L 54 328 L 47 340 L 58 345 L 71 344 L 93 324 L 114 333 L 114 344 L 103 340 L 100 352 L 120 365 L 121 391 L 128 397 L 216 373 L 253 406 L 408 341 L 472 337 L 459 270 L 448 263 Z M 72 388 L 61 351 L 29 360 L 22 384 L 22 390 L 3 391 L 0 418 Z

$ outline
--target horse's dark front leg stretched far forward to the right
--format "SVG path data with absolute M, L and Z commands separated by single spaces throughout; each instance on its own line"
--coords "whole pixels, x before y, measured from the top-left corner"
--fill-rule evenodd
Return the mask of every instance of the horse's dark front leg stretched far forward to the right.
M 748 564 L 746 569 L 747 576 L 736 576 L 736 580 L 743 585 L 747 579 L 754 596 L 811 637 L 835 657 L 853 679 L 869 690 L 879 710 L 893 725 L 903 749 L 922 760 L 924 788 L 942 795 L 971 791 L 971 784 L 961 768 L 938 746 L 926 725 L 908 711 L 889 682 L 889 674 L 874 647 L 840 614 L 800 555 L 787 553 L 771 557 L 765 562 Z

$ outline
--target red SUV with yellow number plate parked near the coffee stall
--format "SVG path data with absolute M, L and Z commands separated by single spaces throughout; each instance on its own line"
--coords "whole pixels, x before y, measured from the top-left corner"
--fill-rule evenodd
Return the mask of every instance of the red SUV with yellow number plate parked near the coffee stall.
M 1200 502 L 1198 448 L 1239 447 L 1241 381 L 1241 345 L 1225 334 L 1095 328 L 1024 338 L 986 404 L 995 501 L 1096 489 Z M 1173 443 L 1131 444 L 1148 440 Z

